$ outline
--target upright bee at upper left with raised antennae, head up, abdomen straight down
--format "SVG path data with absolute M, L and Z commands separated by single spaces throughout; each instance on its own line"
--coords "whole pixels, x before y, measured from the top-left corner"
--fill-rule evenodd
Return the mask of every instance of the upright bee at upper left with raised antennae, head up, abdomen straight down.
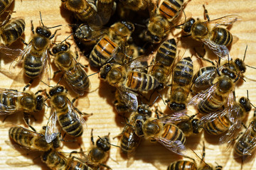
M 43 25 L 41 13 L 40 18 L 41 24 Z M 50 40 L 55 36 L 57 32 L 57 30 L 55 30 L 55 33 L 51 35 L 49 28 L 43 25 L 36 28 L 35 34 L 32 21 L 31 26 L 31 30 L 33 33 L 32 40 L 29 42 L 29 44 L 26 44 L 26 42 L 24 42 L 27 45 L 26 49 L 23 51 L 23 55 L 19 56 L 16 59 L 17 64 L 21 62 L 21 60 L 23 60 L 24 74 L 26 75 L 26 77 L 31 79 L 28 86 L 31 85 L 33 79 L 36 79 L 42 74 L 44 69 L 48 69 L 48 60 L 50 60 L 50 58 L 48 57 L 48 48 L 50 46 Z M 26 86 L 26 88 L 28 86 Z

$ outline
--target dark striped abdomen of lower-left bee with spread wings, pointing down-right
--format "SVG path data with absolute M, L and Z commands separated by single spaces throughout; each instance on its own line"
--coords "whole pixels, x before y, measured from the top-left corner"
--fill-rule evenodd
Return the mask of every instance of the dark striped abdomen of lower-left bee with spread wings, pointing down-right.
M 77 118 L 74 118 L 70 113 L 57 113 L 58 121 L 65 132 L 73 137 L 82 135 L 82 124 Z

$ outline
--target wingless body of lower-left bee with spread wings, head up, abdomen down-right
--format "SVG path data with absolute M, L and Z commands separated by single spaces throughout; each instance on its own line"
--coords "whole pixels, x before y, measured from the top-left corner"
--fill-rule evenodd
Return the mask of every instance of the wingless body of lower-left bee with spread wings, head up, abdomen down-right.
M 63 86 L 55 86 L 50 89 L 50 104 L 56 112 L 58 122 L 68 135 L 80 137 L 82 135 L 82 123 L 75 117 L 72 109 L 70 109 L 70 101 L 67 97 L 67 91 Z

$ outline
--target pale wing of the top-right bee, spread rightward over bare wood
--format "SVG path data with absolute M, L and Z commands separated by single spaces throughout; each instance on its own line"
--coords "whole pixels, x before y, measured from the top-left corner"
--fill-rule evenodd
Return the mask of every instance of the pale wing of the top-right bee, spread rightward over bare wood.
M 238 15 L 229 15 L 229 16 L 223 16 L 221 18 L 217 18 L 211 21 L 206 21 L 204 23 L 208 23 L 210 25 L 214 25 L 214 26 L 230 26 L 233 23 L 235 23 L 235 21 L 239 21 L 241 20 L 242 17 L 238 16 Z

